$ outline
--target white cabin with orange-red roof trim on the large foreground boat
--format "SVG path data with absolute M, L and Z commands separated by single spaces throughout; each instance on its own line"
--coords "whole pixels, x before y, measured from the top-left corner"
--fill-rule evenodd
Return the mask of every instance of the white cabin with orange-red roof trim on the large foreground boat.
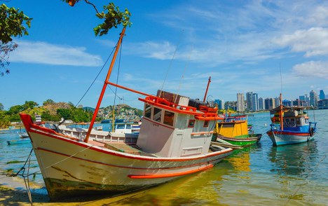
M 144 117 L 137 146 L 161 157 L 208 153 L 217 109 L 205 102 L 158 90 L 144 99 Z M 191 106 L 192 105 L 192 106 Z

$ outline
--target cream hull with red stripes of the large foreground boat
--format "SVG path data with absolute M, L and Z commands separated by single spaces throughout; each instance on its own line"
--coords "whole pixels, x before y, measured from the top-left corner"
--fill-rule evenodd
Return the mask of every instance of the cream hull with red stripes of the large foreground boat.
M 50 199 L 134 191 L 213 167 L 232 149 L 180 158 L 112 151 L 31 128 L 32 146 Z

